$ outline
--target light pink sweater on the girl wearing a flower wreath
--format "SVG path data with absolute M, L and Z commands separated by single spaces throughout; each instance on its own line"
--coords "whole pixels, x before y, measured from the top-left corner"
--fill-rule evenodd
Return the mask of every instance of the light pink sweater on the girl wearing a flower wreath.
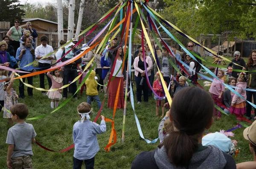
M 236 92 L 238 92 L 241 96 L 246 99 L 246 82 L 238 82 L 236 83 Z M 236 93 L 233 96 L 231 104 L 239 104 L 241 102 L 244 102 L 245 100 L 242 99 L 241 97 L 237 96 Z

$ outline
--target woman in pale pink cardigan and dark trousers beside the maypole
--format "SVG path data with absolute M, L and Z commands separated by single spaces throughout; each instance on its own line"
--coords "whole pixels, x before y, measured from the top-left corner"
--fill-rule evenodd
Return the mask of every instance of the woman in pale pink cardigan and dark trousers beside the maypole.
M 153 63 L 151 57 L 145 56 L 146 66 L 148 77 L 151 76 L 151 70 L 153 68 Z M 136 82 L 136 96 L 137 96 L 137 103 L 141 103 L 141 95 L 143 91 L 143 99 L 145 102 L 148 102 L 148 84 L 146 82 L 145 77 L 145 66 L 144 66 L 144 58 L 143 58 L 143 51 L 140 48 L 140 52 L 138 56 L 134 59 L 134 75 L 135 75 L 135 82 Z M 154 75 L 153 75 L 154 76 Z

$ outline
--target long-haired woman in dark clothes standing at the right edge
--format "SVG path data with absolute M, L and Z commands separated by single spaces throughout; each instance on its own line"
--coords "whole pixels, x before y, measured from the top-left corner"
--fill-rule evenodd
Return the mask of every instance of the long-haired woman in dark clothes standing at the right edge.
M 256 70 L 256 50 L 253 50 L 251 52 L 247 65 L 245 66 L 245 70 L 249 71 L 247 72 L 247 75 L 249 75 L 249 80 L 247 81 L 247 88 L 256 89 L 256 72 L 252 72 L 253 70 Z M 252 101 L 253 97 L 255 103 L 256 92 L 246 91 L 246 97 L 246 100 L 250 102 Z M 252 106 L 248 102 L 246 102 L 246 118 L 248 119 L 251 119 L 251 110 Z

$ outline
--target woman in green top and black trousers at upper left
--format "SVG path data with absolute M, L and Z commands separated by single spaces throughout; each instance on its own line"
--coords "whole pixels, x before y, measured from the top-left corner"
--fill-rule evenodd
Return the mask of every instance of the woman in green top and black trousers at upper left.
M 22 28 L 20 27 L 20 21 L 15 20 L 15 25 L 10 28 L 10 30 L 7 32 L 7 36 L 9 37 L 10 45 L 14 48 L 14 56 L 16 56 L 17 48 L 20 47 L 20 38 L 22 36 Z

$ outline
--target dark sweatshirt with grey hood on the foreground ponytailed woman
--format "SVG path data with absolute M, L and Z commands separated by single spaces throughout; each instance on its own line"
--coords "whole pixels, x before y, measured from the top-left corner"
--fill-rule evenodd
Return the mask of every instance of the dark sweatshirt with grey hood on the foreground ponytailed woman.
M 176 167 L 170 163 L 163 146 L 137 155 L 131 169 L 236 169 L 236 163 L 232 156 L 215 146 L 206 146 L 193 154 L 188 167 Z

